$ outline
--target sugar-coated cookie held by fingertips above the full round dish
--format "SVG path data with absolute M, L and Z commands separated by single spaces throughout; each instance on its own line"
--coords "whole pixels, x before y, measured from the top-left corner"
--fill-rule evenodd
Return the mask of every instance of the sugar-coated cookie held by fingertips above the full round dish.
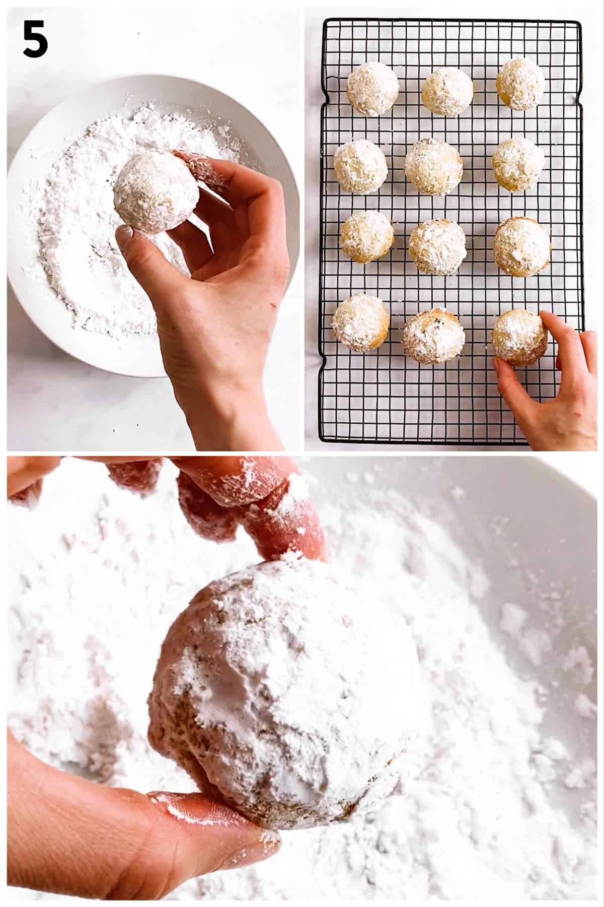
M 185 161 L 164 151 L 136 154 L 122 167 L 113 187 L 113 204 L 129 227 L 161 233 L 187 220 L 199 200 L 199 187 Z

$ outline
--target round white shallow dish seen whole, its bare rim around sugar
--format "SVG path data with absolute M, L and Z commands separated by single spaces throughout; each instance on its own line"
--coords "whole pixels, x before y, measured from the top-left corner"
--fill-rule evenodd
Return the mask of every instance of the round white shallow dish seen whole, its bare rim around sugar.
M 157 336 L 131 336 L 118 345 L 110 336 L 72 327 L 72 315 L 53 289 L 24 268 L 35 257 L 31 225 L 23 208 L 23 188 L 43 180 L 50 167 L 91 122 L 117 111 L 134 111 L 153 99 L 159 112 L 182 112 L 189 119 L 232 122 L 232 135 L 244 141 L 242 163 L 280 180 L 285 195 L 287 245 L 292 273 L 300 245 L 299 196 L 283 151 L 263 123 L 227 94 L 191 79 L 130 75 L 73 94 L 48 112 L 29 133 L 8 173 L 7 268 L 14 293 L 36 327 L 64 352 L 91 366 L 135 377 L 165 375 Z M 197 113 L 198 112 L 198 113 Z

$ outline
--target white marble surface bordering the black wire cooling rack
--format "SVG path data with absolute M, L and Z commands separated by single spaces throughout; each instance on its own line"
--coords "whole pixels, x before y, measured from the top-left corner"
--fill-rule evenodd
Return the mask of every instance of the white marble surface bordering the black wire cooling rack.
M 455 18 L 484 18 L 484 4 L 458 3 Z M 601 34 L 601 21 L 597 22 L 595 8 L 583 4 L 562 7 L 545 3 L 512 3 L 500 10 L 506 18 L 518 19 L 579 19 L 583 28 L 583 140 L 584 140 L 584 263 L 585 263 L 585 313 L 587 327 L 601 328 L 602 298 L 602 166 L 601 135 L 602 112 L 600 86 L 602 83 L 602 60 L 597 47 L 596 36 Z M 319 440 L 317 432 L 317 383 L 321 357 L 317 352 L 317 294 L 319 285 L 319 148 L 320 112 L 323 102 L 321 92 L 321 29 L 323 20 L 330 16 L 371 15 L 379 17 L 404 16 L 406 18 L 438 18 L 451 13 L 450 4 L 432 3 L 429 9 L 412 7 L 355 7 L 354 10 L 341 6 L 313 7 L 305 12 L 305 438 L 307 451 L 326 453 L 427 453 L 447 451 L 451 447 L 432 444 L 429 448 L 416 444 L 326 444 Z M 491 15 L 491 14 L 487 14 Z M 494 13 L 492 14 L 494 15 Z M 602 337 L 599 336 L 601 355 Z M 462 448 L 464 449 L 464 448 Z M 468 451 L 481 451 L 479 445 L 467 447 Z

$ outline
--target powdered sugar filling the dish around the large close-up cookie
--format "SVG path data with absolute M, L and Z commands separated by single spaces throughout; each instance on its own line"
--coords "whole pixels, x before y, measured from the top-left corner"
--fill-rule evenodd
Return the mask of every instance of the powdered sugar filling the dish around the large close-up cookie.
M 168 626 L 200 583 L 257 561 L 241 531 L 225 545 L 191 532 L 175 476 L 166 465 L 158 493 L 143 500 L 102 466 L 65 462 L 36 510 L 9 512 L 10 725 L 53 765 L 140 791 L 192 789 L 146 740 L 146 697 Z M 369 814 L 284 833 L 266 863 L 186 883 L 170 898 L 595 898 L 595 759 L 579 738 L 569 745 L 551 735 L 559 694 L 513 667 L 483 617 L 497 590 L 450 534 L 377 470 L 349 478 L 345 503 L 321 503 L 334 500 L 321 485 L 312 491 L 332 558 L 360 593 L 379 582 L 416 641 L 427 702 L 408 778 Z M 357 498 L 360 487 L 369 503 Z M 462 526 L 470 522 L 463 490 L 451 498 Z M 571 586 L 567 596 L 539 582 L 527 600 L 551 615 L 551 659 L 577 603 Z M 531 639 L 532 616 L 505 608 L 499 619 L 512 647 L 517 635 Z M 523 642 L 517 653 L 528 668 L 533 650 Z M 582 642 L 561 660 L 572 707 L 587 697 L 595 666 Z M 586 727 L 595 722 L 583 699 L 577 713 Z M 576 797 L 572 821 L 560 788 Z

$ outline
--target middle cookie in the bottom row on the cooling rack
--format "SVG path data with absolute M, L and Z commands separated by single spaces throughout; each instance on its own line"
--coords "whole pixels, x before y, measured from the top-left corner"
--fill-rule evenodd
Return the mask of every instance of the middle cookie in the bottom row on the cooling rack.
M 437 366 L 459 356 L 465 331 L 458 319 L 444 308 L 430 308 L 407 321 L 403 346 L 407 356 L 425 366 Z

